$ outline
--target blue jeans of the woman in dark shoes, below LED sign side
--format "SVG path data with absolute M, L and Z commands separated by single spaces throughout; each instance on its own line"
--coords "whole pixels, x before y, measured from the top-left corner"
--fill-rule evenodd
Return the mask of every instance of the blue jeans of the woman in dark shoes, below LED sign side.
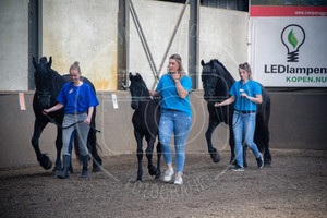
M 256 158 L 259 157 L 257 146 L 253 142 L 255 131 L 255 112 L 241 113 L 238 111 L 234 111 L 233 114 L 233 132 L 235 141 L 237 160 L 238 165 L 240 166 L 243 166 L 243 135 L 245 145 L 247 145 L 252 149 Z

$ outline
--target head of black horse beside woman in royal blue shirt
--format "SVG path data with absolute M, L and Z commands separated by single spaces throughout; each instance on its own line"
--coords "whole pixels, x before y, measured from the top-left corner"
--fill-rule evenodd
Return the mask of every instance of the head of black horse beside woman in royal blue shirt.
M 33 65 L 35 68 L 34 82 L 35 82 L 35 95 L 37 96 L 41 108 L 50 108 L 51 106 L 51 64 L 52 58 L 50 57 L 49 62 L 47 58 L 43 57 L 39 59 L 39 63 L 33 58 Z

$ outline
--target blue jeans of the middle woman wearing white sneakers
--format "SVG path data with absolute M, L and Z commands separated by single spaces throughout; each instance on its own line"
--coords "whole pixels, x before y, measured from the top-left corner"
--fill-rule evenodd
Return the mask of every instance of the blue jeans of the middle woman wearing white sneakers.
M 175 168 L 178 173 L 183 173 L 185 164 L 185 143 L 192 125 L 192 118 L 182 111 L 162 109 L 159 122 L 159 140 L 162 146 L 164 158 L 167 165 L 172 164 L 170 140 L 174 134 Z

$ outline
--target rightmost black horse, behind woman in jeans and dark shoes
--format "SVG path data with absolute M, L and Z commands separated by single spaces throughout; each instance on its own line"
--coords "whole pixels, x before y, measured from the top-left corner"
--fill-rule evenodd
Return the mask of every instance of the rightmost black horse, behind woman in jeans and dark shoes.
M 230 162 L 234 164 L 234 136 L 232 131 L 232 116 L 234 104 L 230 106 L 223 106 L 216 108 L 214 104 L 222 101 L 229 97 L 229 90 L 232 84 L 235 82 L 228 70 L 218 60 L 210 60 L 205 63 L 201 62 L 203 66 L 202 82 L 204 88 L 204 98 L 207 101 L 207 108 L 209 111 L 209 125 L 206 131 L 206 140 L 208 145 L 208 152 L 214 162 L 219 162 L 220 156 L 217 149 L 211 144 L 211 135 L 219 123 L 226 123 L 229 125 L 230 132 L 230 147 L 231 147 L 231 159 Z M 265 166 L 271 164 L 271 155 L 269 150 L 269 117 L 270 117 L 270 97 L 267 89 L 261 85 L 263 102 L 257 105 L 256 112 L 256 126 L 254 133 L 254 142 L 256 143 L 261 153 L 264 152 Z M 244 150 L 244 166 L 246 166 L 246 149 Z

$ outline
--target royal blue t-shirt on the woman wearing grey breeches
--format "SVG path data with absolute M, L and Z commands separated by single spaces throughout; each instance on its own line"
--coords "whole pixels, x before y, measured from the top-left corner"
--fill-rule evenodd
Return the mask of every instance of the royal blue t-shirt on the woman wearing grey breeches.
M 64 113 L 86 112 L 88 108 L 99 105 L 97 96 L 87 83 L 74 86 L 66 83 L 60 90 L 57 101 L 65 106 Z

